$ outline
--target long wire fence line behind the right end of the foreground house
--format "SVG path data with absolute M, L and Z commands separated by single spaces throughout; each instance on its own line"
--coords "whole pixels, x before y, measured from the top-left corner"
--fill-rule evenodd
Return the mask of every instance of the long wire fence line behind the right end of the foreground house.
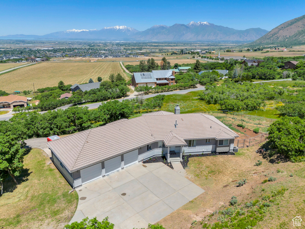
M 264 125 L 264 126 L 270 126 L 272 122 L 276 121 L 276 119 L 273 118 L 264 118 L 260 116 L 255 116 L 255 115 L 245 115 L 242 113 L 234 112 L 234 111 L 206 111 L 203 113 L 207 113 L 209 115 L 213 115 L 214 117 L 219 117 L 219 116 L 225 116 L 228 118 L 244 121 L 244 122 L 251 122 L 251 123 L 256 123 L 258 125 Z

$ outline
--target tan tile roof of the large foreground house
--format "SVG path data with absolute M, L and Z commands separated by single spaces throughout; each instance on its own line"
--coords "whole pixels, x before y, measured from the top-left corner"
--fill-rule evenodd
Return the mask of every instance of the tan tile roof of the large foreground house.
M 211 115 L 153 113 L 75 133 L 48 142 L 48 146 L 70 171 L 75 171 L 156 141 L 185 145 L 188 139 L 222 138 L 222 132 L 227 139 L 238 137 Z

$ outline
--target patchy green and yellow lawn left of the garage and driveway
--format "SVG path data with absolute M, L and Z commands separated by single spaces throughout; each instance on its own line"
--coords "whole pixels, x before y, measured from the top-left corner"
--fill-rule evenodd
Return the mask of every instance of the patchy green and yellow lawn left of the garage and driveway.
M 78 195 L 40 149 L 24 157 L 24 169 L 16 187 L 4 182 L 0 197 L 0 228 L 63 228 L 73 217 Z

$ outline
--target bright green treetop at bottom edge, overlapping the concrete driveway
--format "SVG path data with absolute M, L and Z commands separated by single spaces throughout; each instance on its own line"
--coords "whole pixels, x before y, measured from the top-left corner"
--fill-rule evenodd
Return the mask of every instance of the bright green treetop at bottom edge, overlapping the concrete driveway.
M 113 229 L 114 224 L 108 221 L 108 217 L 99 222 L 99 220 L 94 217 L 89 220 L 89 218 L 83 219 L 81 222 L 73 222 L 72 224 L 67 224 L 65 228 L 67 229 Z

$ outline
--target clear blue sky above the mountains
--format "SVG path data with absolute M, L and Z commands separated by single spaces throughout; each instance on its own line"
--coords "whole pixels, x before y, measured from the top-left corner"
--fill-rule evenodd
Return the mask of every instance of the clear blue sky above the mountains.
M 271 30 L 304 14 L 305 1 L 24 1 L 2 0 L 0 36 L 44 35 L 68 29 L 207 21 L 235 29 Z

